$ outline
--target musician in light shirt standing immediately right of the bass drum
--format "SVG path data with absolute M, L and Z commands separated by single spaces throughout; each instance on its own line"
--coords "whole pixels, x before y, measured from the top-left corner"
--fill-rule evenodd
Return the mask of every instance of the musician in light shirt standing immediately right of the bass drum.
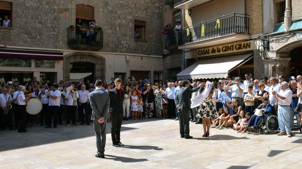
M 44 117 L 45 117 L 45 124 L 46 125 L 48 124 L 46 121 L 47 120 L 46 115 L 48 114 L 47 111 L 48 111 L 49 99 L 47 97 L 44 97 L 44 95 L 48 93 L 49 88 L 47 83 L 43 83 L 42 87 L 44 90 L 39 91 L 39 97 L 43 105 L 42 111 L 40 112 L 40 122 L 41 122 L 40 126 L 44 125 Z

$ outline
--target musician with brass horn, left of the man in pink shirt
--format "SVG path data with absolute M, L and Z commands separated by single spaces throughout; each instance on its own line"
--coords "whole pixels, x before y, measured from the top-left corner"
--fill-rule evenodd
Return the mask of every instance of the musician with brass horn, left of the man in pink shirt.
M 70 86 L 72 86 L 73 89 L 75 89 L 75 85 L 70 85 Z M 79 98 L 79 94 L 77 91 L 74 93 L 72 90 L 70 90 L 68 95 L 66 95 L 67 117 L 66 117 L 65 126 L 70 125 L 70 117 L 72 120 L 72 125 L 76 125 L 76 105 L 77 105 L 77 99 Z

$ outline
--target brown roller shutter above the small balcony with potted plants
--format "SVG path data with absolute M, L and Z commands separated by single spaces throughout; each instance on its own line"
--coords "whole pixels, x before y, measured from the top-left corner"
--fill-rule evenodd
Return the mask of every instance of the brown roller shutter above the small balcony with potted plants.
M 76 4 L 76 18 L 93 20 L 94 8 L 89 5 Z

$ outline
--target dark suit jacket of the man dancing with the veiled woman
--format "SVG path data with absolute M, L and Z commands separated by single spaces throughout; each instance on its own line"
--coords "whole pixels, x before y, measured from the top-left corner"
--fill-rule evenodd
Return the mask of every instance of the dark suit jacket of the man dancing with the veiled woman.
M 176 98 L 175 98 L 175 105 L 176 108 L 180 106 L 180 110 L 190 110 L 191 107 L 191 94 L 196 92 L 200 89 L 199 86 L 189 89 L 188 87 L 182 87 L 178 90 Z

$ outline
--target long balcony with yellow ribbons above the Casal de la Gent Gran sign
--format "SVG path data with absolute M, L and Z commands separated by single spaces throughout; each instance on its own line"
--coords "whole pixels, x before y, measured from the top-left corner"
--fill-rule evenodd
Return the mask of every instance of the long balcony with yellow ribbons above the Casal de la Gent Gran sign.
M 165 49 L 198 49 L 249 37 L 249 15 L 232 13 L 165 34 Z

